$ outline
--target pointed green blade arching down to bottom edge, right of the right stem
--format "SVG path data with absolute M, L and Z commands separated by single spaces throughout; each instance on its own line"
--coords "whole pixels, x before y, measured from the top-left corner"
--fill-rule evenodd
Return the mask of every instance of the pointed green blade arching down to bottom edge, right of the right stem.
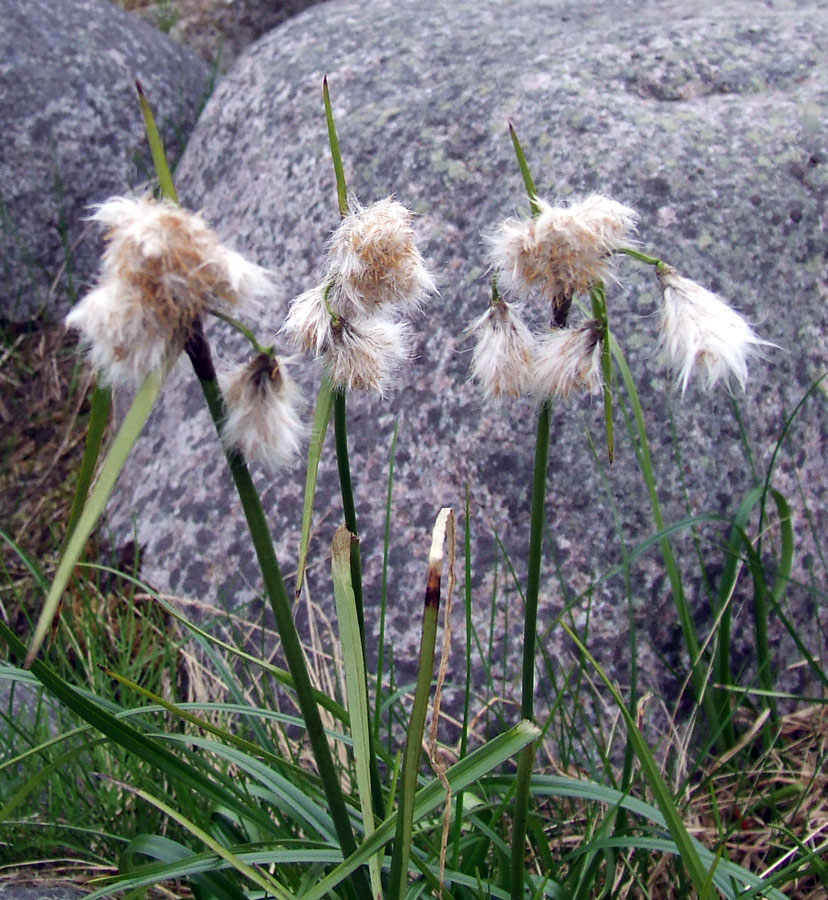
M 629 735 L 636 756 L 641 764 L 641 771 L 647 779 L 647 783 L 650 786 L 650 790 L 653 792 L 653 796 L 656 798 L 658 808 L 661 810 L 662 816 L 664 816 L 664 821 L 676 843 L 682 862 L 690 875 L 690 879 L 692 880 L 699 897 L 704 897 L 709 889 L 709 873 L 699 857 L 690 834 L 684 826 L 684 822 L 681 820 L 681 816 L 676 809 L 675 803 L 673 803 L 673 798 L 670 795 L 667 785 L 664 783 L 664 779 L 661 777 L 661 773 L 650 752 L 650 748 L 647 746 L 644 737 L 638 730 L 635 719 L 624 703 L 624 698 L 575 632 L 563 620 L 560 620 L 560 625 L 578 647 L 578 650 L 583 657 L 593 667 L 601 681 L 604 682 L 607 690 L 612 694 L 619 712 L 624 717 L 624 722 L 627 726 L 627 734 Z

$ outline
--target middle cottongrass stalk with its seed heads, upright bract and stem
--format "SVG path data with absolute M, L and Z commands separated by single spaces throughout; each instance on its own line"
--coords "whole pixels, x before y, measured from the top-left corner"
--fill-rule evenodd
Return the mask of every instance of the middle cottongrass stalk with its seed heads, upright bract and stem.
M 414 241 L 411 212 L 391 197 L 363 206 L 348 196 L 327 79 L 323 97 L 341 221 L 328 244 L 322 280 L 292 301 L 282 330 L 299 348 L 313 352 L 324 369 L 317 409 L 324 410 L 329 404 L 333 407 L 343 515 L 345 527 L 353 535 L 351 585 L 364 659 L 362 562 L 348 452 L 347 394 L 349 390 L 367 390 L 383 395 L 388 390 L 412 352 L 404 314 L 417 309 L 436 286 Z M 324 432 L 327 416 L 318 424 Z M 322 437 L 315 435 L 317 446 Z M 309 460 L 306 524 L 314 489 L 315 467 Z M 300 586 L 306 558 L 304 533 L 302 540 Z M 373 739 L 370 734 L 372 744 Z M 373 746 L 370 756 L 374 812 L 382 818 L 385 804 Z

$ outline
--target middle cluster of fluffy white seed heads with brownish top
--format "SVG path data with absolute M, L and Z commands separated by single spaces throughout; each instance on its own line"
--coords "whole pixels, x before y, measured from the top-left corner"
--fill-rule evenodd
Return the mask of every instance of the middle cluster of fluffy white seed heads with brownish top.
M 319 356 L 337 388 L 385 393 L 412 352 L 405 313 L 436 291 L 412 214 L 386 198 L 351 199 L 331 237 L 323 280 L 296 297 L 282 330 Z

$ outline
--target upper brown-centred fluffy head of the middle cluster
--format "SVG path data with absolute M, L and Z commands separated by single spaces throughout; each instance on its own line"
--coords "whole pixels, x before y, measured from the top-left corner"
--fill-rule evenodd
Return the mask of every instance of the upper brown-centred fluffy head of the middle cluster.
M 383 306 L 412 309 L 436 291 L 414 242 L 411 219 L 411 212 L 391 197 L 370 206 L 351 200 L 328 249 L 336 313 L 352 318 Z

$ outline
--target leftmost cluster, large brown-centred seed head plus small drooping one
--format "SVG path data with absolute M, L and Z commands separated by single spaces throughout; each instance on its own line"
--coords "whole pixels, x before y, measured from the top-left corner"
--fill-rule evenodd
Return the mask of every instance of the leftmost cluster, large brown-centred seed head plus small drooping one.
M 93 219 L 107 229 L 101 276 L 66 324 L 80 332 L 107 384 L 138 387 L 153 370 L 169 369 L 205 315 L 238 314 L 273 293 L 267 269 L 171 201 L 114 197 Z M 299 393 L 272 348 L 221 381 L 225 446 L 271 465 L 288 462 L 302 434 Z

